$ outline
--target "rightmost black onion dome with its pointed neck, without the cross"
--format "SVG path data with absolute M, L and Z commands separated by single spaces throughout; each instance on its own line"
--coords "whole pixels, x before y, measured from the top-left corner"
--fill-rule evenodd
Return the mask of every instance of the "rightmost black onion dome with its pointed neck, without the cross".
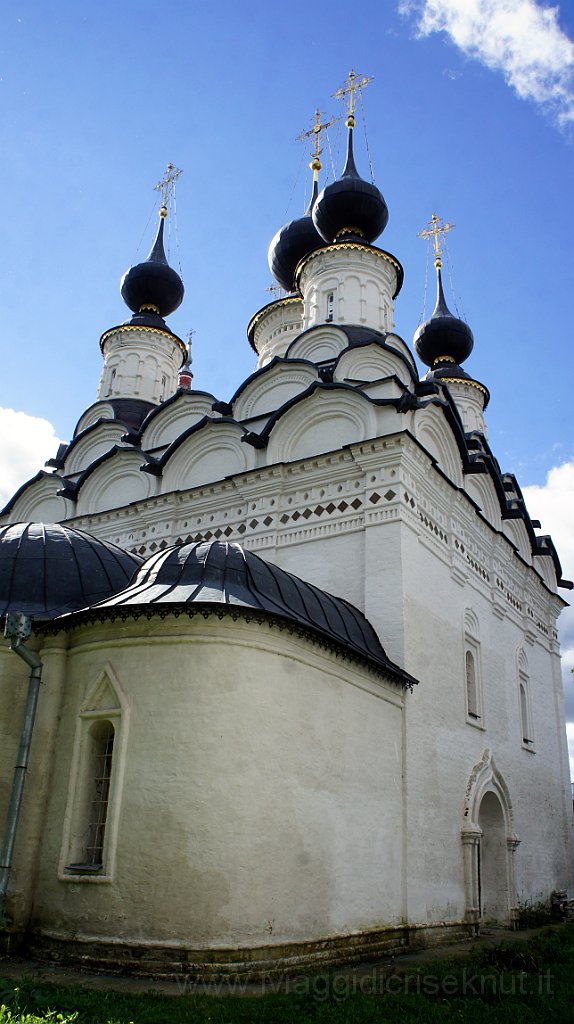
M 435 362 L 438 361 L 439 366 L 445 362 L 446 372 L 441 376 L 452 376 L 448 371 L 449 365 L 458 366 L 463 362 L 473 350 L 475 339 L 469 325 L 453 316 L 445 302 L 440 267 L 437 268 L 435 310 L 432 316 L 416 329 L 412 344 L 418 358 L 433 370 Z M 459 377 L 462 373 L 459 371 L 455 376 Z

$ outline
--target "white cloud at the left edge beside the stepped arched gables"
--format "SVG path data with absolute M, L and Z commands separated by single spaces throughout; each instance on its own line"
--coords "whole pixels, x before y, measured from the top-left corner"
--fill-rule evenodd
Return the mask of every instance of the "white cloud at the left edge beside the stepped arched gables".
M 0 508 L 55 456 L 59 443 L 48 420 L 0 407 Z

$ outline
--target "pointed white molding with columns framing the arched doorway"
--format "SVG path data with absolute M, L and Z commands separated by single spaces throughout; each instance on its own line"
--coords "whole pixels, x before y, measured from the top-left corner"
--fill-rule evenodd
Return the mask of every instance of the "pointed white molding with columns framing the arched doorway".
M 514 828 L 514 813 L 511 794 L 506 782 L 496 767 L 492 751 L 485 750 L 480 761 L 474 766 L 467 790 L 460 839 L 465 868 L 465 900 L 467 921 L 476 925 L 480 922 L 480 847 L 483 830 L 479 824 L 480 807 L 487 793 L 493 793 L 500 804 L 504 820 L 506 840 L 505 863 L 509 891 L 509 924 L 518 919 L 517 891 L 515 884 L 515 853 L 520 845 L 520 836 Z

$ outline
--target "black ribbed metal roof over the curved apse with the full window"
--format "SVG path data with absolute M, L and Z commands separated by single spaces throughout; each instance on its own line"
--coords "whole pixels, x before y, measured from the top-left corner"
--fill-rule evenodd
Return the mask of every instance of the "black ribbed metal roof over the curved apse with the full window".
M 127 608 L 135 610 L 142 605 L 164 605 L 167 610 L 166 604 L 216 604 L 230 611 L 251 608 L 266 612 L 324 638 L 345 653 L 390 674 L 403 686 L 415 682 L 387 657 L 372 626 L 358 608 L 245 551 L 239 544 L 200 542 L 159 552 L 143 563 L 125 590 L 100 601 L 91 611 L 122 609 L 125 613 Z

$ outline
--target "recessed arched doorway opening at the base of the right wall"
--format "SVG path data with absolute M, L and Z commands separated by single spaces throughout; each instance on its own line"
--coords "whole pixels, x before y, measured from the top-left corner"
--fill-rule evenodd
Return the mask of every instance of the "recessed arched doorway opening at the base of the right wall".
M 509 921 L 509 857 L 504 812 L 495 793 L 485 793 L 479 808 L 482 836 L 478 850 L 479 907 L 484 924 Z

